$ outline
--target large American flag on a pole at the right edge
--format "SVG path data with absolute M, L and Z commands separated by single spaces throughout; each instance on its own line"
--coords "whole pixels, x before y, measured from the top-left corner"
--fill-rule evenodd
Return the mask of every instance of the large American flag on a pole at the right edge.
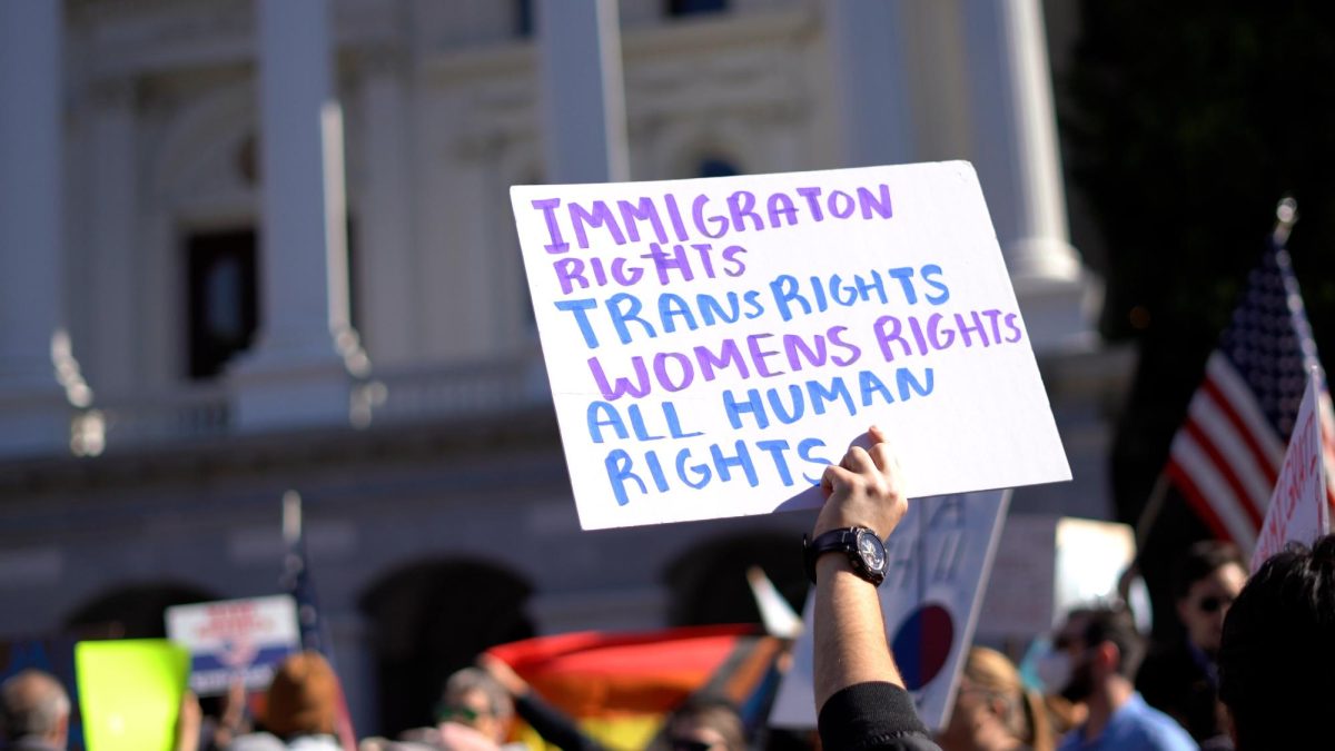
M 1331 402 L 1298 279 L 1276 231 L 1242 303 L 1206 363 L 1206 380 L 1173 436 L 1165 473 L 1216 537 L 1256 544 L 1311 366 L 1322 376 L 1331 466 Z M 1335 494 L 1327 492 L 1335 502 Z

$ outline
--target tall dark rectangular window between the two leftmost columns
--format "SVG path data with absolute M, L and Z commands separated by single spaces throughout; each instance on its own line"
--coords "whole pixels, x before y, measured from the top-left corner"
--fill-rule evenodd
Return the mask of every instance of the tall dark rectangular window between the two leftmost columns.
M 196 233 L 186 243 L 191 378 L 212 378 L 259 327 L 255 230 Z

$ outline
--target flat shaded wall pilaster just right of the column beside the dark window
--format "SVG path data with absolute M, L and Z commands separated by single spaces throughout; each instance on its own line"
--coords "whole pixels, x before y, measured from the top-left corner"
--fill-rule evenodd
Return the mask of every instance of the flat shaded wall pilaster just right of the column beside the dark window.
M 413 261 L 413 135 L 405 92 L 405 65 L 390 49 L 366 56 L 360 86 L 366 184 L 356 273 L 358 327 L 375 363 L 403 365 L 418 354 Z

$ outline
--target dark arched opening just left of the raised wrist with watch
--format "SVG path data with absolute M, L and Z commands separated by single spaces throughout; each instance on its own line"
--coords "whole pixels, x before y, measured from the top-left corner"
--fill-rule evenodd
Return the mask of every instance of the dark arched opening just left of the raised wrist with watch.
M 701 543 L 668 567 L 673 625 L 761 623 L 746 583 L 746 569 L 760 567 L 788 604 L 802 612 L 806 572 L 788 535 L 756 533 Z

